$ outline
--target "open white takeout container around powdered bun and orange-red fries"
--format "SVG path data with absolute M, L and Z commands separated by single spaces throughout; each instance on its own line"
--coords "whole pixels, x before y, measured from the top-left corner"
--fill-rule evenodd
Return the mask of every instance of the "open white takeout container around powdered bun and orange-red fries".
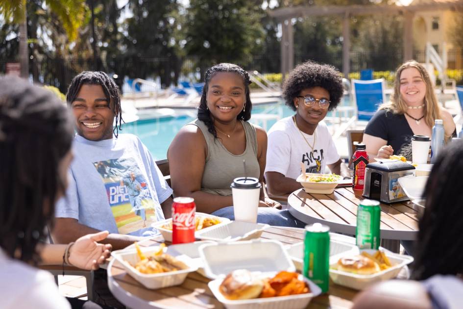
M 282 270 L 295 271 L 283 245 L 275 240 L 205 244 L 199 248 L 199 253 L 204 260 L 206 276 L 215 279 L 209 282 L 209 288 L 228 309 L 302 309 L 307 307 L 313 297 L 321 293 L 321 289 L 307 279 L 304 280 L 308 283 L 311 293 L 306 294 L 229 300 L 220 293 L 219 286 L 225 276 L 237 269 L 247 269 L 261 278 L 271 278 Z

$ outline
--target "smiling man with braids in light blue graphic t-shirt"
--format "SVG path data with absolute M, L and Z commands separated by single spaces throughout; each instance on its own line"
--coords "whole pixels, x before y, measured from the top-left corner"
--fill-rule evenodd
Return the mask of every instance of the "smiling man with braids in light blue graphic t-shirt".
M 57 205 L 55 239 L 70 242 L 108 230 L 106 241 L 121 249 L 155 234 L 150 224 L 170 216 L 172 190 L 138 137 L 119 134 L 117 85 L 103 72 L 82 72 L 73 78 L 66 100 L 77 134 L 70 185 Z M 127 179 L 136 181 L 137 190 Z

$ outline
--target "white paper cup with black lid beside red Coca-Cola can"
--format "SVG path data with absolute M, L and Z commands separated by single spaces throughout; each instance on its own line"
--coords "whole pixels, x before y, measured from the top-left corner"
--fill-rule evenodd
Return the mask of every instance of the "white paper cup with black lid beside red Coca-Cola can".
M 257 223 L 261 184 L 257 178 L 239 177 L 230 185 L 236 221 Z

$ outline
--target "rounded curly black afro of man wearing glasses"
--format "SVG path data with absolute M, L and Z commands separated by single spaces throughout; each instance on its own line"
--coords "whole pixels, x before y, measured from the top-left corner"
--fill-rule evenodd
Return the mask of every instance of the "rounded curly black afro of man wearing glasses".
M 307 61 L 299 64 L 290 72 L 283 85 L 283 98 L 285 104 L 296 110 L 294 98 L 307 88 L 321 87 L 330 93 L 330 106 L 328 110 L 335 109 L 341 101 L 344 87 L 342 77 L 335 67 Z

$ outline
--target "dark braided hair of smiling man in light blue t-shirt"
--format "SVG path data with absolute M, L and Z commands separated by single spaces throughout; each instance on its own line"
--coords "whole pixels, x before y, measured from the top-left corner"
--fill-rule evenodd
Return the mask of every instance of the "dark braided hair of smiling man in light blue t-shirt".
M 113 102 L 113 112 L 116 117 L 116 126 L 114 127 L 113 132 L 114 135 L 118 137 L 119 130 L 122 130 L 121 126 L 123 122 L 119 87 L 116 85 L 114 80 L 104 72 L 84 71 L 75 76 L 71 85 L 69 85 L 68 93 L 66 94 L 66 101 L 68 102 L 68 105 L 73 103 L 82 85 L 100 85 L 103 88 L 106 99 L 109 101 L 108 104 L 111 104 L 111 101 Z

